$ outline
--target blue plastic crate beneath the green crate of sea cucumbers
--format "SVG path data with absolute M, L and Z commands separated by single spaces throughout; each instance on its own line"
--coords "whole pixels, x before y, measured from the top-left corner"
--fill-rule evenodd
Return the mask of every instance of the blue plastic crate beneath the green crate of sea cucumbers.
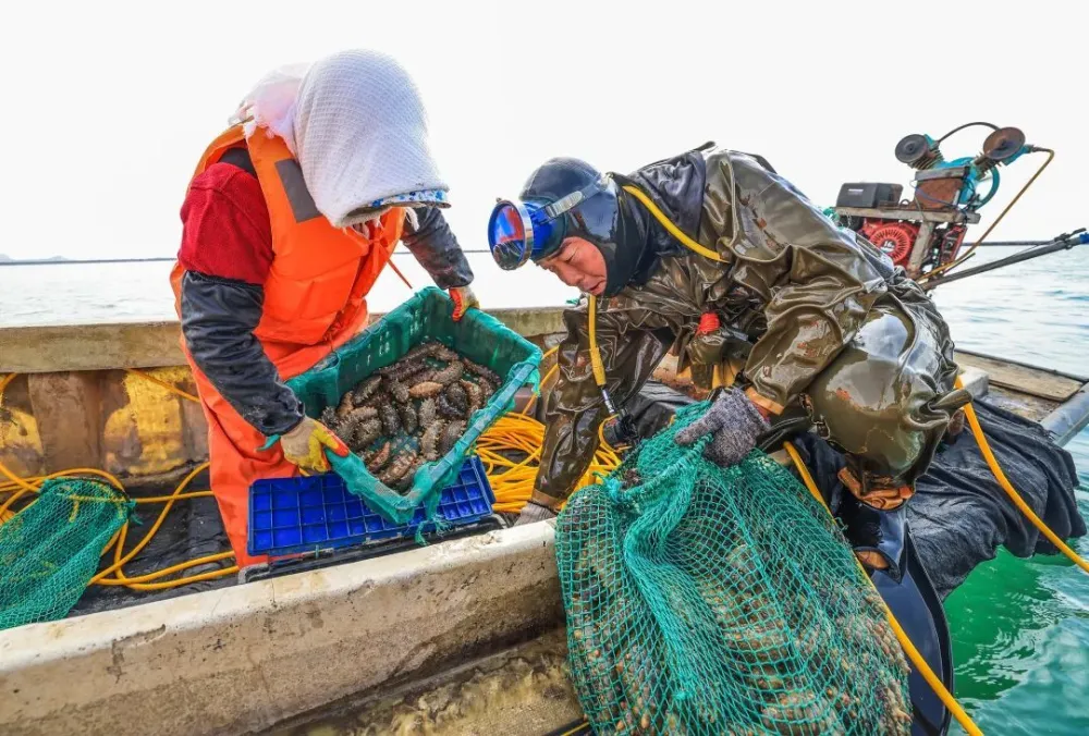
M 474 524 L 491 514 L 495 495 L 476 455 L 462 464 L 457 480 L 442 489 L 439 516 L 451 526 Z M 408 524 L 391 524 L 352 495 L 334 473 L 306 478 L 258 480 L 249 487 L 249 554 L 271 556 L 315 552 L 413 537 L 426 524 L 424 507 Z M 429 528 L 430 527 L 430 528 Z

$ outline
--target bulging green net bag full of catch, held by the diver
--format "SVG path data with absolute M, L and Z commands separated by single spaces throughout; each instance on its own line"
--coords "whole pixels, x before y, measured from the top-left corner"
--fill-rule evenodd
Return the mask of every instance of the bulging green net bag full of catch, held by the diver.
M 909 667 L 823 507 L 676 421 L 556 523 L 572 678 L 599 734 L 906 734 Z

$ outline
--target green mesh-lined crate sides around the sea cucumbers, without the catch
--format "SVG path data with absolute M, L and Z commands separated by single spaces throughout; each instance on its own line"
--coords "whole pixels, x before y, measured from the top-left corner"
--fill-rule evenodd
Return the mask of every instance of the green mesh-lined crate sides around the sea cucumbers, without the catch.
M 327 406 L 335 406 L 344 392 L 360 380 L 430 340 L 443 343 L 503 378 L 502 385 L 488 403 L 470 417 L 462 439 L 438 461 L 421 465 L 412 488 L 404 494 L 379 481 L 355 455 L 329 455 L 333 470 L 344 479 L 348 491 L 394 524 L 411 520 L 420 505 L 429 520 L 436 519 L 439 492 L 456 477 L 473 443 L 495 419 L 513 408 L 518 389 L 524 385 L 536 389 L 540 379 L 541 352 L 536 345 L 478 309 L 470 309 L 457 322 L 452 314 L 450 298 L 428 286 L 317 366 L 287 381 L 306 413 L 318 417 Z

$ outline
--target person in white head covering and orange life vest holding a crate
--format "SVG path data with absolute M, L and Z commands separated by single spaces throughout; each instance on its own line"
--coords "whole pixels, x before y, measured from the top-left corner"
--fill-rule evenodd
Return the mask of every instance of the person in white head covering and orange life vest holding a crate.
M 477 306 L 446 188 L 416 87 L 369 51 L 268 75 L 197 164 L 171 284 L 241 566 L 259 562 L 246 554 L 250 483 L 347 452 L 284 381 L 366 327 L 397 242 L 449 290 L 455 319 Z

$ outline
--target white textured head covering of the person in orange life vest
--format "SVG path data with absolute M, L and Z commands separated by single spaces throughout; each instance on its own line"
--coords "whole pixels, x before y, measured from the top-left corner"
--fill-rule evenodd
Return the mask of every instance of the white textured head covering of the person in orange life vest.
M 266 75 L 236 120 L 246 136 L 279 135 L 298 159 L 318 211 L 334 228 L 389 207 L 445 207 L 419 93 L 402 66 L 375 51 L 343 51 Z M 359 210 L 366 211 L 359 211 Z

